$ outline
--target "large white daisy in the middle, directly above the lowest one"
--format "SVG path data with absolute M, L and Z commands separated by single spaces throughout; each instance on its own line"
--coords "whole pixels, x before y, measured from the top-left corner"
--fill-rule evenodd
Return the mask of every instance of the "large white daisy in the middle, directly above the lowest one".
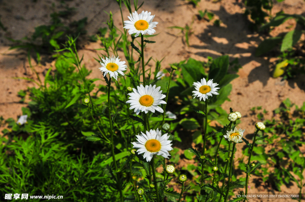
M 137 86 L 138 90 L 132 89 L 134 92 L 128 93 L 129 100 L 126 103 L 130 103 L 130 110 L 135 109 L 135 113 L 138 115 L 140 111 L 148 113 L 151 111 L 155 113 L 155 110 L 163 113 L 163 109 L 160 104 L 166 104 L 162 99 L 166 97 L 166 95 L 161 94 L 162 90 L 160 90 L 160 86 L 156 88 L 156 85 L 146 85 L 145 88 L 141 84 Z

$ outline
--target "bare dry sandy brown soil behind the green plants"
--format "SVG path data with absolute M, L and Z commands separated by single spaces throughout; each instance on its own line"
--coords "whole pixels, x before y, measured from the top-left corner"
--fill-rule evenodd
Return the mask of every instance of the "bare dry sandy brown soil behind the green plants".
M 88 17 L 86 30 L 88 35 L 95 34 L 100 27 L 106 26 L 104 22 L 108 19 L 104 12 L 112 11 L 115 25 L 122 30 L 122 22 L 119 7 L 115 0 L 73 0 L 65 1 L 69 7 L 75 7 L 75 14 L 66 19 L 66 22 L 79 20 Z M 52 8 L 52 3 L 55 7 Z M 139 0 L 139 4 L 142 3 Z M 245 134 L 254 132 L 254 124 L 257 121 L 250 115 L 250 108 L 262 106 L 263 109 L 271 112 L 277 108 L 286 98 L 290 98 L 292 103 L 302 105 L 305 101 L 305 79 L 301 76 L 289 81 L 281 81 L 280 78 L 271 78 L 270 68 L 271 57 L 255 57 L 254 52 L 262 36 L 251 32 L 248 29 L 248 21 L 243 16 L 244 8 L 239 0 L 222 0 L 213 3 L 212 0 L 201 0 L 195 8 L 182 0 L 147 0 L 140 11 L 148 10 L 155 16 L 154 21 L 159 22 L 154 37 L 157 43 L 149 44 L 145 49 L 145 58 L 153 56 L 154 59 L 162 61 L 162 68 L 169 67 L 169 64 L 188 59 L 207 61 L 207 56 L 217 57 L 228 54 L 232 60 L 239 58 L 242 68 L 239 70 L 239 78 L 232 82 L 233 90 L 229 98 L 222 107 L 229 112 L 229 108 L 242 113 L 241 128 L 246 129 Z M 207 9 L 216 16 L 214 19 L 221 20 L 221 26 L 213 25 L 213 21 L 199 20 L 196 15 L 199 10 Z M 50 13 L 63 10 L 60 1 L 38 0 L 0 0 L 1 21 L 7 27 L 7 32 L 0 30 L 0 116 L 5 119 L 21 115 L 21 107 L 17 97 L 19 90 L 34 86 L 33 83 L 25 80 L 13 79 L 12 77 L 27 77 L 36 79 L 31 72 L 26 55 L 17 50 L 9 50 L 10 42 L 6 37 L 21 39 L 30 36 L 34 32 L 34 27 L 47 24 L 50 21 Z M 303 0 L 285 0 L 275 3 L 272 14 L 283 10 L 289 14 L 304 14 L 305 2 Z M 123 16 L 127 19 L 129 12 L 123 9 Z M 192 24 L 193 21 L 193 24 Z M 186 46 L 182 34 L 179 30 L 169 29 L 169 26 L 181 26 L 192 24 L 193 34 L 190 36 L 190 47 Z M 290 25 L 295 26 L 293 20 L 287 21 L 271 33 L 272 36 L 282 32 L 287 32 Z M 291 28 L 290 28 L 291 29 Z M 303 36 L 304 40 L 304 36 Z M 84 54 L 85 66 L 92 70 L 90 77 L 101 78 L 100 65 L 93 59 L 96 53 L 92 51 L 100 48 L 99 43 L 88 43 L 79 50 L 79 54 Z M 119 52 L 119 56 L 124 58 L 124 54 Z M 45 65 L 36 65 L 38 73 L 43 78 L 42 72 L 46 68 L 53 66 L 54 62 L 46 62 Z M 151 65 L 154 65 L 151 63 Z M 269 117 L 268 117 L 269 116 Z M 267 115 L 271 118 L 272 113 Z M 241 149 L 241 148 L 238 148 Z M 259 186 L 250 181 L 250 193 L 268 193 L 271 188 Z M 303 190 L 305 191 L 305 190 Z M 281 193 L 297 193 L 296 185 L 282 187 Z M 250 200 L 260 201 L 260 200 Z M 262 200 L 268 201 L 268 200 Z M 271 201 L 271 200 L 270 200 Z M 288 201 L 288 200 L 287 200 Z

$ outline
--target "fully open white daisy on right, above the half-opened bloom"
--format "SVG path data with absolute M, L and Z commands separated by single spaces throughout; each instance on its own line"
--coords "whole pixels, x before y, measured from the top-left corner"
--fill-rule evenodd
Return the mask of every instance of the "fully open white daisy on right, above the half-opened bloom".
M 200 97 L 200 101 L 201 99 L 203 99 L 203 101 L 205 101 L 206 99 L 208 99 L 208 96 L 213 96 L 214 95 L 219 95 L 217 91 L 217 89 L 220 88 L 215 88 L 215 86 L 217 86 L 217 83 L 213 83 L 213 79 L 210 79 L 208 82 L 206 82 L 206 79 L 203 78 L 201 79 L 201 82 L 194 82 L 195 85 L 195 91 L 193 91 L 194 93 L 194 99 L 196 97 Z

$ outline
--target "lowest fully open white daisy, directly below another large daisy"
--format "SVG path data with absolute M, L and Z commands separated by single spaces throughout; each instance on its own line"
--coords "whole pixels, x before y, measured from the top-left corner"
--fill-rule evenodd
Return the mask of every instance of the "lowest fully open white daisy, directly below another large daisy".
M 157 131 L 150 130 L 146 131 L 146 134 L 136 135 L 138 142 L 131 142 L 134 146 L 133 148 L 139 148 L 138 154 L 144 153 L 143 157 L 146 158 L 146 161 L 149 162 L 152 159 L 154 154 L 161 155 L 164 158 L 168 158 L 170 154 L 168 151 L 173 150 L 171 147 L 171 140 L 168 140 L 170 137 L 166 134 L 161 134 L 159 128 Z

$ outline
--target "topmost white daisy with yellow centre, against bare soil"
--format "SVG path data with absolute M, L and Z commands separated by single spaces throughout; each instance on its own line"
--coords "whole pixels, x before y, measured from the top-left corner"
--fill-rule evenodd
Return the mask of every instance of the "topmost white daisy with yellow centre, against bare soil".
M 135 37 L 138 37 L 139 34 L 149 34 L 152 35 L 156 32 L 153 28 L 156 27 L 158 22 L 152 22 L 152 19 L 155 15 L 151 16 L 151 12 L 142 11 L 142 13 L 138 14 L 136 11 L 134 13 L 130 13 L 130 20 L 124 21 L 124 28 L 129 29 L 129 34 L 136 34 Z

